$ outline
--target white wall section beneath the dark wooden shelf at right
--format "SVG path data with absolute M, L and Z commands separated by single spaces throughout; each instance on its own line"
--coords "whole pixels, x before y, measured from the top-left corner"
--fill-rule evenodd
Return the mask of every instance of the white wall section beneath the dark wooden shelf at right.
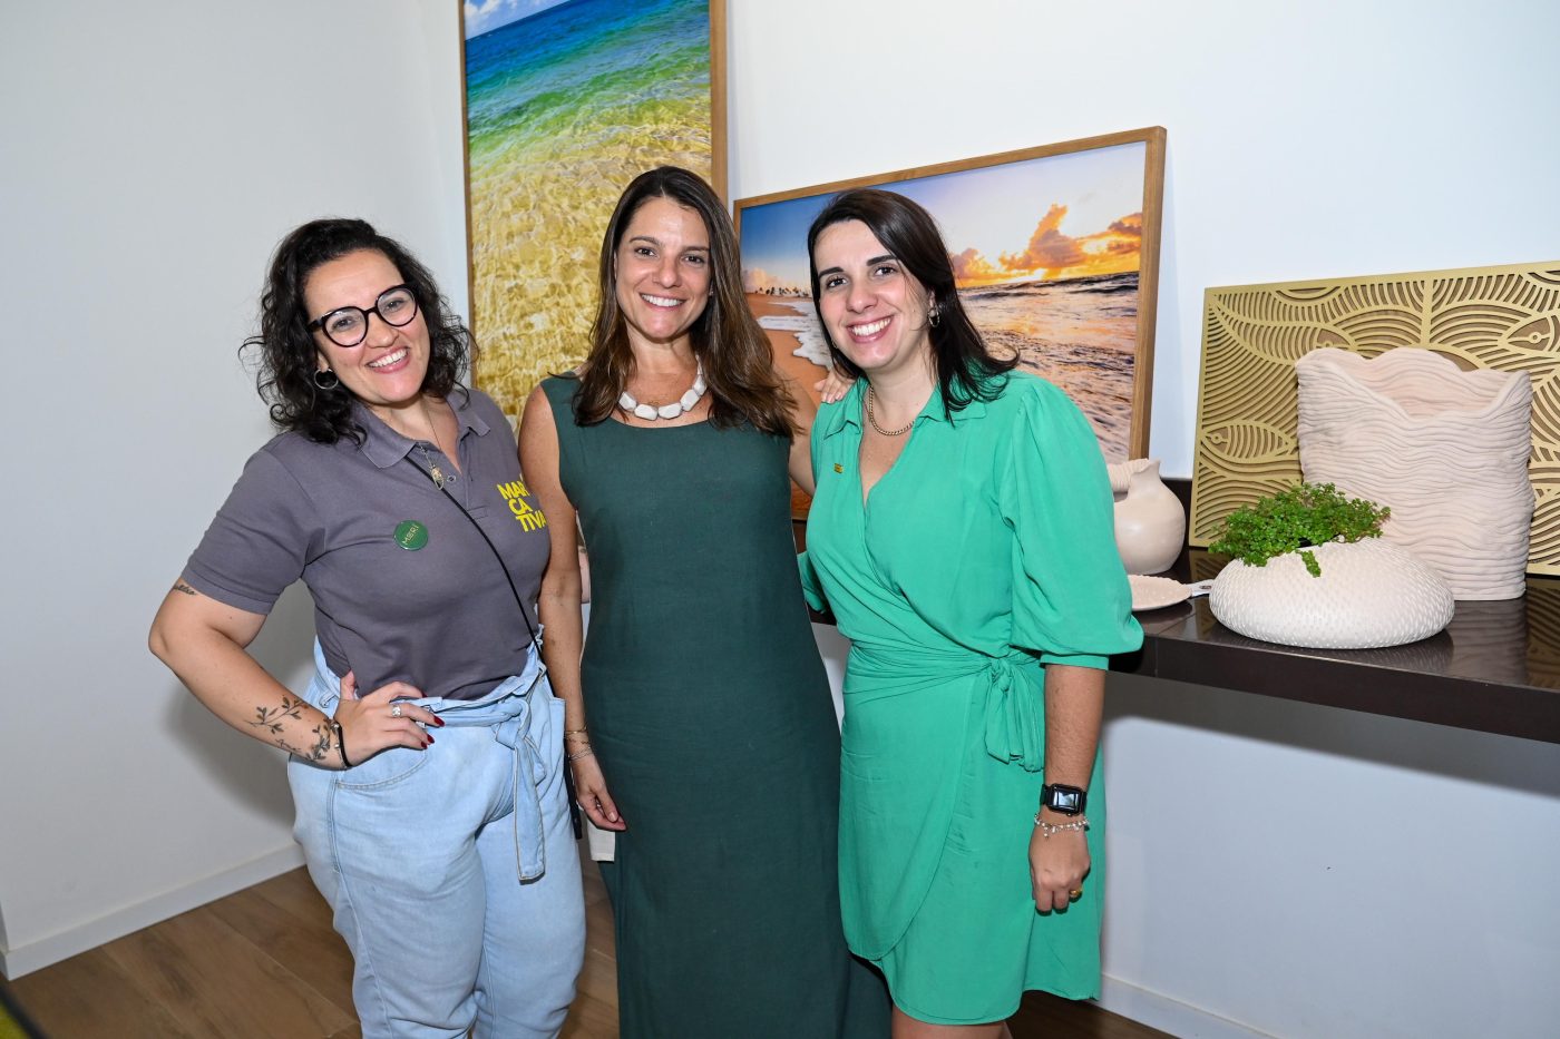
M 1112 1009 L 1211 1039 L 1555 1034 L 1560 747 L 1112 676 L 1104 757 Z

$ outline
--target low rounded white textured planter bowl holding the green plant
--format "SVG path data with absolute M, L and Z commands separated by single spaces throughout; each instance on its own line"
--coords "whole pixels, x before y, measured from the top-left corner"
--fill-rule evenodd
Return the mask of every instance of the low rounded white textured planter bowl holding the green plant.
M 1440 574 L 1382 538 L 1331 541 L 1265 566 L 1231 560 L 1214 579 L 1207 605 L 1246 638 L 1310 649 L 1379 649 L 1416 643 L 1452 619 L 1455 602 Z

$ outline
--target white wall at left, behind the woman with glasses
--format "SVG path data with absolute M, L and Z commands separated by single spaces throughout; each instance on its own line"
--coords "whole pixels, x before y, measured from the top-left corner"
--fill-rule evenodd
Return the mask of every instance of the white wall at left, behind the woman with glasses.
M 279 758 L 145 633 L 268 435 L 236 348 L 276 240 L 360 214 L 463 309 L 459 47 L 418 0 L 0 9 L 6 973 L 300 861 Z M 289 679 L 309 613 L 259 641 Z

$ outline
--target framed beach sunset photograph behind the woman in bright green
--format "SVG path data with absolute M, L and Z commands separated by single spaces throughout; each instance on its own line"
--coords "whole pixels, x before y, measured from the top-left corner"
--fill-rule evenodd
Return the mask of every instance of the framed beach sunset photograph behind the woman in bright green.
M 736 201 L 743 287 L 775 363 L 828 367 L 807 229 L 835 193 L 883 187 L 942 229 L 959 300 L 995 351 L 1061 387 L 1106 462 L 1148 452 L 1165 131 L 1131 129 Z M 792 487 L 792 515 L 810 501 Z

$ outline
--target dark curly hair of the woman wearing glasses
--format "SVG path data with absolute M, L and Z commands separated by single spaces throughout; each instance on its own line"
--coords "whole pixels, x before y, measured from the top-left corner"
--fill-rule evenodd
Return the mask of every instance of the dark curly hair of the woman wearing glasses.
M 429 334 L 427 374 L 423 392 L 446 398 L 460 384 L 471 363 L 476 343 L 471 332 L 449 312 L 434 276 L 395 239 L 365 220 L 310 220 L 276 246 L 265 292 L 261 295 L 261 334 L 243 340 L 242 351 L 259 353 L 256 388 L 270 404 L 271 423 L 282 432 L 298 431 L 315 443 L 349 438 L 362 443 L 363 427 L 353 420 L 353 393 L 340 382 L 321 390 L 315 385 L 318 346 L 306 328 L 309 312 L 303 289 L 309 275 L 348 253 L 382 253 L 412 289 Z

